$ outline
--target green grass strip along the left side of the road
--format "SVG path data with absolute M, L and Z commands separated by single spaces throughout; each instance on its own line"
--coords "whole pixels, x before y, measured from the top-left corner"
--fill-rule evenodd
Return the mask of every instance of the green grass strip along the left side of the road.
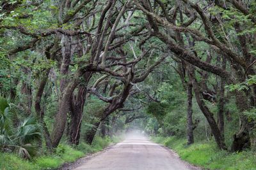
M 2 170 L 39 170 L 56 169 L 65 162 L 75 162 L 77 159 L 88 155 L 89 153 L 99 152 L 111 143 L 117 143 L 120 139 L 113 137 L 100 138 L 96 136 L 92 145 L 80 143 L 78 146 L 70 146 L 61 143 L 56 149 L 56 153 L 51 155 L 42 155 L 29 161 L 21 159 L 12 153 L 0 152 L 0 169 Z

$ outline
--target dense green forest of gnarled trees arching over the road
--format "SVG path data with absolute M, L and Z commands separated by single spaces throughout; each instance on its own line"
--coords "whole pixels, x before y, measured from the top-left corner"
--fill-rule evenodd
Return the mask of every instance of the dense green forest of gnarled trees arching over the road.
M 137 129 L 255 155 L 255 1 L 0 4 L 0 155 L 33 162 Z

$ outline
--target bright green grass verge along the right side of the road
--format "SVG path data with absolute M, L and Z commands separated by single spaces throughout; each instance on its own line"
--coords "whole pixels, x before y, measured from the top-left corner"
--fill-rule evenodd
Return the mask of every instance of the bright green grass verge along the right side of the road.
M 256 153 L 251 151 L 228 153 L 218 150 L 216 145 L 211 142 L 195 143 L 186 146 L 186 139 L 178 139 L 175 137 L 153 137 L 152 140 L 172 148 L 180 155 L 182 160 L 186 160 L 195 166 L 204 167 L 205 169 L 256 169 Z

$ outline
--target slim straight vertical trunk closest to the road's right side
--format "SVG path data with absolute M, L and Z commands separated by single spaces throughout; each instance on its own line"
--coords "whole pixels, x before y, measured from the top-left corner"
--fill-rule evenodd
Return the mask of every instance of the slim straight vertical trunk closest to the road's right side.
M 192 114 L 193 114 L 193 110 L 192 110 L 192 98 L 193 98 L 193 94 L 192 94 L 192 83 L 191 81 L 189 81 L 188 85 L 187 85 L 187 96 L 188 96 L 188 113 L 187 113 L 187 138 L 188 138 L 188 145 L 194 143 L 194 134 L 193 134 L 193 119 L 192 119 Z

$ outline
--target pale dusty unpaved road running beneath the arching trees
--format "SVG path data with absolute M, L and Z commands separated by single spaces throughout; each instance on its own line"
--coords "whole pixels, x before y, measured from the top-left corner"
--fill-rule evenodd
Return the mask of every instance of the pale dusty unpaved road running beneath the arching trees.
M 99 153 L 95 157 L 81 162 L 74 168 L 88 170 L 186 170 L 199 169 L 189 165 L 177 157 L 177 155 L 164 148 L 148 141 L 143 136 L 131 136 L 122 143 Z

